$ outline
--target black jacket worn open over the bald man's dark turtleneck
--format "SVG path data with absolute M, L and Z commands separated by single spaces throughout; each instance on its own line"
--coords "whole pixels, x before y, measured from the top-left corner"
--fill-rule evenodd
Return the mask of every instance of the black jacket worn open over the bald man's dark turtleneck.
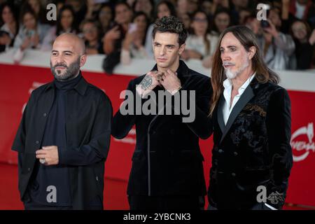
M 20 198 L 25 193 L 38 160 L 45 123 L 55 97 L 55 85 L 47 83 L 31 92 L 12 149 L 18 151 Z M 82 77 L 67 93 L 66 150 L 59 164 L 69 166 L 73 209 L 87 209 L 90 200 L 99 196 L 103 201 L 104 162 L 109 152 L 112 107 L 106 94 Z M 90 151 L 97 155 L 92 163 Z

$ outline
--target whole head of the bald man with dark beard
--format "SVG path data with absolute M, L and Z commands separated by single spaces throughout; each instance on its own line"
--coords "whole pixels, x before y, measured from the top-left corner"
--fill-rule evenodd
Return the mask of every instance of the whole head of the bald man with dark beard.
M 61 34 L 52 45 L 50 69 L 57 80 L 69 80 L 78 76 L 86 59 L 83 40 L 75 34 Z

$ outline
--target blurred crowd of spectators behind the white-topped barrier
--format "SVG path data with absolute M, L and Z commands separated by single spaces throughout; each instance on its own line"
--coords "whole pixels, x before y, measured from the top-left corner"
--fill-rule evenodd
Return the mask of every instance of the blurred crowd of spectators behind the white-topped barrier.
M 183 60 L 199 59 L 210 68 L 218 37 L 233 25 L 246 25 L 258 38 L 270 69 L 314 69 L 314 0 L 10 0 L 0 6 L 0 51 L 15 49 L 20 62 L 25 49 L 49 51 L 59 34 L 71 32 L 85 41 L 87 55 L 104 54 L 104 67 L 152 58 L 155 20 L 175 15 L 189 36 Z M 47 20 L 48 3 L 57 20 Z M 258 20 L 257 5 L 267 6 Z

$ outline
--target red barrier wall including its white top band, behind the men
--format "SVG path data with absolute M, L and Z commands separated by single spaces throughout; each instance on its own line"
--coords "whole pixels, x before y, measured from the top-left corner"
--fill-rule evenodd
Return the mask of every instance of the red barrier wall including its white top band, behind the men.
M 20 64 L 14 64 L 13 51 L 0 55 L 0 162 L 17 164 L 17 155 L 10 151 L 18 129 L 22 111 L 31 91 L 50 82 L 49 52 L 29 50 Z M 92 55 L 83 67 L 85 79 L 101 88 L 111 99 L 113 112 L 118 111 L 125 90 L 132 78 L 152 69 L 155 62 L 150 59 L 134 59 L 128 66 L 118 65 L 114 74 L 102 71 L 104 55 Z M 187 63 L 191 69 L 210 76 L 210 69 L 198 61 Z M 280 85 L 288 90 L 291 99 L 293 169 L 289 179 L 286 202 L 315 206 L 315 71 L 277 71 Z M 127 181 L 131 169 L 131 158 L 136 143 L 136 132 L 132 128 L 125 139 L 111 139 L 109 157 L 106 160 L 105 176 Z M 200 140 L 204 155 L 204 174 L 209 183 L 211 167 L 212 137 Z

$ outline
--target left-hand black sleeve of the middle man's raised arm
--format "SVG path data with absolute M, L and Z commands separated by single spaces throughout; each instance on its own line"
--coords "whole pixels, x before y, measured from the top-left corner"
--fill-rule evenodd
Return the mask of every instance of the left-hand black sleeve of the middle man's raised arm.
M 132 97 L 138 97 L 135 90 L 136 86 L 134 85 L 134 80 L 131 80 L 130 83 L 127 86 L 127 91 L 132 94 Z M 133 106 L 131 109 L 132 113 L 123 114 L 120 109 L 116 112 L 115 116 L 113 117 L 113 125 L 111 130 L 111 135 L 113 135 L 116 139 L 123 139 L 127 136 L 127 134 L 132 129 L 132 126 L 134 125 L 136 121 L 135 111 L 136 111 L 136 100 L 132 99 L 129 100 L 129 94 L 125 94 L 125 99 L 123 101 L 123 104 L 121 104 L 120 109 L 124 108 L 128 111 L 130 111 L 129 106 Z M 129 100 L 129 101 L 128 101 Z M 133 104 L 133 105 L 132 105 Z

